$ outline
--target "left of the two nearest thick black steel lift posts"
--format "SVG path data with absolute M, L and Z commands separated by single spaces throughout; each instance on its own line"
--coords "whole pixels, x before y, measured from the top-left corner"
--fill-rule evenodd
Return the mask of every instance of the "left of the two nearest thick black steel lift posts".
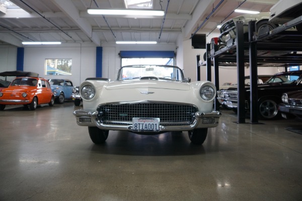
M 245 70 L 244 70 L 244 32 L 243 22 L 236 22 L 237 35 L 237 90 L 238 90 L 238 113 L 237 123 L 245 123 Z

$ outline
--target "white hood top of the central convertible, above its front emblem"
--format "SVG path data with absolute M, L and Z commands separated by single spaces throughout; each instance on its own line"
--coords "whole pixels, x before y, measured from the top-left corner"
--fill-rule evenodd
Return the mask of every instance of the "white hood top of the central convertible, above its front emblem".
M 128 89 L 128 88 L 164 88 L 177 90 L 190 90 L 190 85 L 180 81 L 166 80 L 123 80 L 107 84 L 107 90 Z

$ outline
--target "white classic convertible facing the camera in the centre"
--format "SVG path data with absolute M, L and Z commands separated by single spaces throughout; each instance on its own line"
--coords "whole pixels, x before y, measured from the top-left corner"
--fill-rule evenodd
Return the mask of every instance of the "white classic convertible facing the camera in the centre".
M 221 115 L 212 111 L 215 94 L 212 82 L 190 82 L 176 66 L 124 66 L 116 81 L 81 83 L 83 110 L 73 115 L 79 126 L 88 126 L 96 144 L 107 139 L 109 130 L 142 135 L 188 131 L 192 143 L 202 144 Z

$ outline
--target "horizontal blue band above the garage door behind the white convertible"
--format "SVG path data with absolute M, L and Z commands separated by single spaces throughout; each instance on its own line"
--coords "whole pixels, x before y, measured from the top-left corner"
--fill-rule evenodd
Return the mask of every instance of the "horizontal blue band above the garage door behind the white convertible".
M 120 51 L 121 58 L 173 58 L 174 51 Z

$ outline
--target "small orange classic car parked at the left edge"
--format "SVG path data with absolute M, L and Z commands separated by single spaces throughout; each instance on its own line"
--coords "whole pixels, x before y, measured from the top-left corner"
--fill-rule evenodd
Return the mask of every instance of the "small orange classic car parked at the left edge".
M 6 105 L 24 105 L 35 110 L 41 104 L 54 105 L 49 82 L 41 77 L 17 77 L 0 92 L 0 110 Z

